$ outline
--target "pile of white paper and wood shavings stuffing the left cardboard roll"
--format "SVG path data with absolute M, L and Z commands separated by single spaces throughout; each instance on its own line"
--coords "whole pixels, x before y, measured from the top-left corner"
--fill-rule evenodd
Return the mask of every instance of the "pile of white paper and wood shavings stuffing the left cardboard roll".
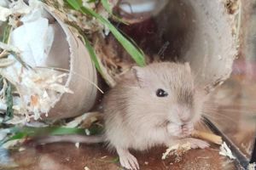
M 49 20 L 44 16 L 44 8 L 38 0 L 30 0 L 29 5 L 19 0 L 9 3 L 9 7 L 1 7 L 0 19 L 8 20 L 12 26 L 9 42 L 0 43 L 2 53 L 9 59 L 8 65 L 0 68 L 0 75 L 4 78 L 3 88 L 0 91 L 1 110 L 6 110 L 5 91 L 6 83 L 15 87 L 14 106 L 15 116 L 24 116 L 38 120 L 42 113 L 47 113 L 60 99 L 61 94 L 73 93 L 65 87 L 67 73 L 49 68 L 38 68 L 45 64 L 51 45 L 54 31 L 49 26 Z M 18 16 L 18 17 L 17 17 Z M 26 38 L 25 38 L 26 37 Z M 6 63 L 6 61 L 5 61 Z M 9 123 L 15 124 L 15 119 Z

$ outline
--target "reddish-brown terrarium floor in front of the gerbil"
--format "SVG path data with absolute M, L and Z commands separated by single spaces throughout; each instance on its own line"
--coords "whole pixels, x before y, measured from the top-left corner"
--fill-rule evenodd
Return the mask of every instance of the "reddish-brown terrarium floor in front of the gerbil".
M 161 160 L 166 148 L 155 148 L 145 153 L 135 153 L 143 170 L 232 170 L 237 169 L 234 161 L 218 155 L 218 148 L 189 150 L 181 161 L 169 158 Z M 116 170 L 122 169 L 117 155 L 110 154 L 101 144 L 46 144 L 28 147 L 12 154 L 19 170 Z M 114 162 L 115 161 L 115 162 Z

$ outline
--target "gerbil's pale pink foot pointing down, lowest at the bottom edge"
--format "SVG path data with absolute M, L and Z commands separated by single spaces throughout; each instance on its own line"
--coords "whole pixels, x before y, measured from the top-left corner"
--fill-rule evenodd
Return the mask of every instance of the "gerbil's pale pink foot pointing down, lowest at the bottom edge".
M 139 170 L 139 165 L 135 156 L 132 156 L 129 150 L 119 149 L 119 161 L 122 167 L 129 170 Z

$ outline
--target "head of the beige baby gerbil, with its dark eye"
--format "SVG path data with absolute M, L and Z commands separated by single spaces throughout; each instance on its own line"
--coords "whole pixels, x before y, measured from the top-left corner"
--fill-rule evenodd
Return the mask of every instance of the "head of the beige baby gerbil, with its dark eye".
M 131 109 L 158 124 L 183 124 L 197 121 L 202 99 L 195 88 L 194 77 L 188 63 L 155 63 L 146 67 L 133 67 L 137 78 Z M 143 118 L 143 117 L 141 117 Z

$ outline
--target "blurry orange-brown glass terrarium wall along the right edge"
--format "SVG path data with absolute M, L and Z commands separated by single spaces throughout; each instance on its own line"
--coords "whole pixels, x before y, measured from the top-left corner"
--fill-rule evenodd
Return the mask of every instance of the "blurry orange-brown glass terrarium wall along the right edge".
M 241 1 L 238 58 L 230 78 L 213 94 L 208 113 L 212 121 L 241 150 L 252 157 L 256 135 L 256 3 Z M 255 161 L 255 158 L 254 158 Z

